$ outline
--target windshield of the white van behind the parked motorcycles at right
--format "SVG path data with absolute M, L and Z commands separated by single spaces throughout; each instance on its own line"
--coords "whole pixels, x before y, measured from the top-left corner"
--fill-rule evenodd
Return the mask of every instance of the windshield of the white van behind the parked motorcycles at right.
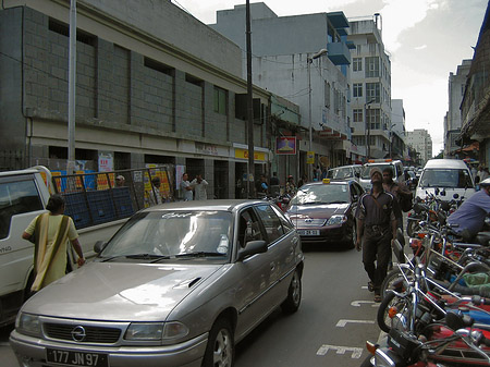
M 421 174 L 420 187 L 471 188 L 473 182 L 465 169 L 427 169 Z

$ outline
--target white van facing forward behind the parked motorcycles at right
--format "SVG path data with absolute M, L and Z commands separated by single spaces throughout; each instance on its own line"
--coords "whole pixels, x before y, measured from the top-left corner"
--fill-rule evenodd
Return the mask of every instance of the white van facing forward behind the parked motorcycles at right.
M 418 181 L 416 196 L 425 199 L 428 194 L 451 200 L 454 194 L 467 199 L 475 194 L 475 183 L 468 166 L 458 159 L 430 159 Z

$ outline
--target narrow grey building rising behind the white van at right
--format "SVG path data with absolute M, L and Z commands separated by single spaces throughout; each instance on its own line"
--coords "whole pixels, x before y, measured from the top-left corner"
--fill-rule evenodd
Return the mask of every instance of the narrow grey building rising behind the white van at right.
M 456 145 L 456 138 L 461 133 L 461 102 L 465 94 L 466 78 L 471 66 L 471 60 L 463 60 L 457 66 L 456 73 L 450 73 L 449 77 L 449 110 L 444 118 L 444 157 L 454 157 L 461 147 Z

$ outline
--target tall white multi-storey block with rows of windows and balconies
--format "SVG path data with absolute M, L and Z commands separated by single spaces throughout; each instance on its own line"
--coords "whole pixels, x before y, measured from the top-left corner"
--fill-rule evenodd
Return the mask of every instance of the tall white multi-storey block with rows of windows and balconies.
M 365 146 L 368 158 L 390 154 L 391 61 L 381 37 L 381 15 L 350 19 L 352 49 L 353 144 Z M 369 143 L 368 143 L 369 142 Z

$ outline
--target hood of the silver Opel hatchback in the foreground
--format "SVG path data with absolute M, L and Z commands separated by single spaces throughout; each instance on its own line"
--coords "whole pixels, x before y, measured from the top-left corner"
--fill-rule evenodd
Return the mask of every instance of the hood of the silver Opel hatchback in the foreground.
M 118 321 L 163 321 L 223 265 L 89 262 L 23 306 L 37 315 Z

